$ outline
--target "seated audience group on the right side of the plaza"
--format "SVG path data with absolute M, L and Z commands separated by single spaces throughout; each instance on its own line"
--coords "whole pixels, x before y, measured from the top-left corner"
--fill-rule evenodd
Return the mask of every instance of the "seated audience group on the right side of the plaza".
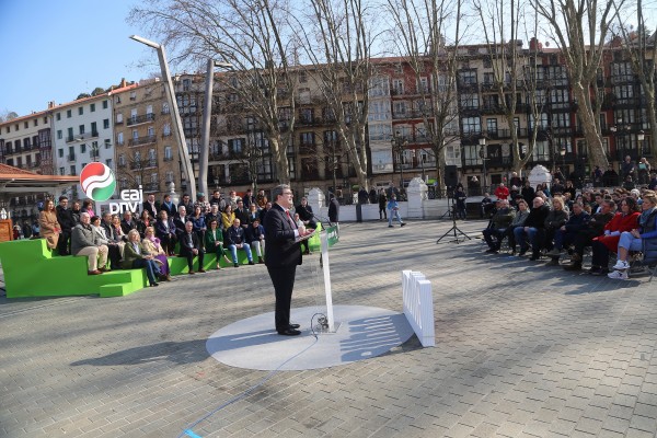
M 648 187 L 626 189 L 570 191 L 568 184 L 552 185 L 552 193 L 527 184 L 521 193 L 488 201 L 488 227 L 483 237 L 487 253 L 497 254 L 506 240 L 511 255 L 530 261 L 549 257 L 549 265 L 560 265 L 567 252 L 566 270 L 580 270 L 584 253 L 591 249 L 591 275 L 627 279 L 629 255 L 643 253 L 644 263 L 657 263 L 657 195 Z M 486 199 L 485 199 L 486 200 Z M 492 206 L 491 209 L 487 207 Z M 616 262 L 609 269 L 610 254 Z

